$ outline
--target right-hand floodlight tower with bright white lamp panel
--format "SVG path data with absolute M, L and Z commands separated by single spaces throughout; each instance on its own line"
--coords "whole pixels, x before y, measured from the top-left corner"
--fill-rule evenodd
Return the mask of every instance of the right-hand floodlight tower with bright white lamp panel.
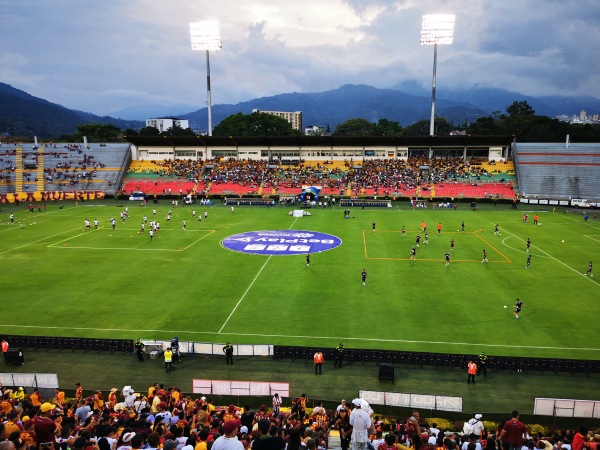
M 431 121 L 429 135 L 435 135 L 435 78 L 438 44 L 452 44 L 454 14 L 425 14 L 421 25 L 421 45 L 433 45 L 433 81 L 431 84 Z

